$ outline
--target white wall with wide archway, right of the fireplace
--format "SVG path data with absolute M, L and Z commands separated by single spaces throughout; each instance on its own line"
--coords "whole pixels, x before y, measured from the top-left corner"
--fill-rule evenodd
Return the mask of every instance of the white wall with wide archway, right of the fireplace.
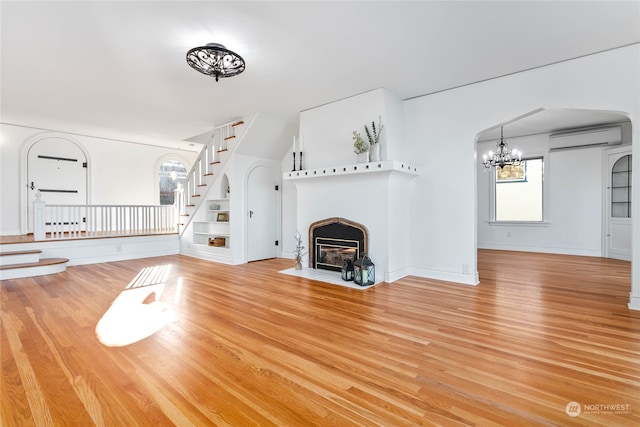
M 639 77 L 640 45 L 633 45 L 405 101 L 405 136 L 412 161 L 422 170 L 413 181 L 411 206 L 414 274 L 455 280 L 467 275 L 465 266 L 470 274 L 477 270 L 478 132 L 540 107 L 622 111 L 631 119 L 638 153 Z M 593 165 L 590 154 L 584 156 Z M 633 159 L 637 169 L 640 156 Z M 633 184 L 638 200 L 637 174 Z M 594 215 L 589 221 L 595 224 L 599 211 Z M 638 204 L 633 216 L 640 217 Z M 633 233 L 640 241 L 640 227 Z M 593 241 L 588 245 L 595 247 Z M 640 308 L 639 250 L 633 261 L 632 301 Z

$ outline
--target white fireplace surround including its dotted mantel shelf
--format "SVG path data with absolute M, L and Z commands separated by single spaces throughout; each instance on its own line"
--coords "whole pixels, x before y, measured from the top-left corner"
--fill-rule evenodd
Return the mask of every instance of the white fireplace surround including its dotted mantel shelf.
M 338 217 L 367 228 L 377 283 L 393 282 L 409 272 L 408 184 L 419 175 L 413 165 L 384 160 L 285 172 L 283 182 L 295 185 L 296 228 L 306 247 L 311 247 L 307 231 L 316 221 Z

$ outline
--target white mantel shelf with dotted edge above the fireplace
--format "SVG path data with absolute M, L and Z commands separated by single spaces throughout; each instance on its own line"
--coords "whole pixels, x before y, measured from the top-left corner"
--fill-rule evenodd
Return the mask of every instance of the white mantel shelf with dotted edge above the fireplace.
M 414 176 L 420 175 L 418 168 L 408 163 L 401 162 L 399 160 L 382 160 L 379 162 L 357 163 L 345 166 L 330 166 L 326 168 L 285 172 L 282 174 L 282 179 L 287 181 L 377 172 L 401 172 Z

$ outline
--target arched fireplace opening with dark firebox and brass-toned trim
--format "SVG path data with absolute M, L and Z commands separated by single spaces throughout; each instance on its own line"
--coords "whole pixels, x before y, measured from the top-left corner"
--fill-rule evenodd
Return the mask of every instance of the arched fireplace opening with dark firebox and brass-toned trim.
M 344 218 L 327 218 L 309 227 L 309 266 L 340 271 L 347 259 L 368 251 L 367 228 Z

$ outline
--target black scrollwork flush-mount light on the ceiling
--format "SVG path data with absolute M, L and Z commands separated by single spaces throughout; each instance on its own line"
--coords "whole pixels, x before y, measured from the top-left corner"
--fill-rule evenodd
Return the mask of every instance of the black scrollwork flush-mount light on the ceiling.
M 244 59 L 219 43 L 208 43 L 189 50 L 187 64 L 202 74 L 215 77 L 216 81 L 237 76 L 244 71 Z

